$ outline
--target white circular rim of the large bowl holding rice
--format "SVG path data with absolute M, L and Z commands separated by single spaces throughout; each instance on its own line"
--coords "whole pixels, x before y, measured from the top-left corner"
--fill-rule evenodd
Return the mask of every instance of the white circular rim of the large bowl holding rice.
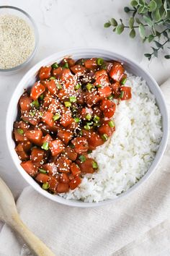
M 151 163 L 151 166 L 148 168 L 148 171 L 146 172 L 146 174 L 143 175 L 143 177 L 137 182 L 135 183 L 132 187 L 130 187 L 130 189 L 128 189 L 126 192 L 122 192 L 120 195 L 118 195 L 117 197 L 114 197 L 112 199 L 108 199 L 108 200 L 104 200 L 104 201 L 100 201 L 100 202 L 82 202 L 81 200 L 67 200 L 63 197 L 60 197 L 58 195 L 51 195 L 49 192 L 46 192 L 44 189 L 42 189 L 40 187 L 39 184 L 37 184 L 34 179 L 32 179 L 32 177 L 30 177 L 25 171 L 23 171 L 23 168 L 20 166 L 19 161 L 15 161 L 16 158 L 16 153 L 14 151 L 14 147 L 12 147 L 12 136 L 11 133 L 12 130 L 10 129 L 10 119 L 11 119 L 11 109 L 13 108 L 14 104 L 13 101 L 16 97 L 17 94 L 17 90 L 19 90 L 19 88 L 24 88 L 24 80 L 28 80 L 30 78 L 30 74 L 33 75 L 33 73 L 37 73 L 38 69 L 40 69 L 41 66 L 47 65 L 49 63 L 52 63 L 53 59 L 62 59 L 66 56 L 71 56 L 72 54 L 83 54 L 84 52 L 86 52 L 88 54 L 105 54 L 105 55 L 111 55 L 111 56 L 115 56 L 115 58 L 120 59 L 122 62 L 127 61 L 128 64 L 131 65 L 135 65 L 135 67 L 138 70 L 141 70 L 142 72 L 146 73 L 146 75 L 148 76 L 148 78 L 151 80 L 151 82 L 153 83 L 154 87 L 156 87 L 156 89 L 158 90 L 158 94 L 159 97 L 161 97 L 161 101 L 162 101 L 162 108 L 164 108 L 164 133 L 163 133 L 163 137 L 161 139 L 160 142 L 160 146 L 158 148 L 158 152 L 159 155 L 156 154 L 156 158 L 154 158 L 153 162 Z M 97 52 L 97 53 L 96 53 Z M 123 197 L 128 196 L 130 193 L 134 192 L 135 189 L 137 189 L 140 184 L 144 183 L 150 176 L 151 174 L 153 174 L 153 171 L 155 171 L 156 167 L 158 166 L 158 163 L 160 163 L 162 156 L 164 155 L 164 151 L 166 150 L 166 145 L 168 142 L 168 138 L 169 138 L 169 112 L 167 110 L 166 107 L 166 103 L 164 100 L 164 95 L 161 92 L 161 89 L 159 88 L 156 80 L 153 79 L 153 77 L 151 76 L 151 74 L 146 70 L 143 69 L 143 67 L 140 67 L 140 64 L 138 64 L 136 61 L 133 61 L 130 58 L 127 58 L 125 56 L 122 56 L 121 54 L 117 54 L 113 51 L 109 51 L 107 49 L 104 48 L 69 48 L 63 51 L 58 51 L 55 54 L 52 54 L 48 57 L 46 57 L 45 59 L 42 59 L 41 61 L 39 61 L 37 64 L 35 64 L 26 74 L 24 74 L 24 77 L 22 77 L 22 80 L 19 81 L 17 87 L 14 90 L 14 93 L 12 95 L 12 98 L 9 102 L 9 106 L 7 109 L 7 113 L 6 113 L 6 140 L 7 140 L 7 145 L 9 148 L 9 153 L 12 157 L 12 160 L 14 161 L 14 165 L 17 167 L 17 170 L 19 170 L 19 173 L 23 176 L 23 178 L 26 180 L 26 182 L 28 182 L 28 184 L 30 184 L 33 189 L 37 190 L 37 192 L 39 192 L 41 195 L 47 197 L 50 200 L 53 200 L 54 202 L 59 202 L 63 205 L 68 205 L 68 206 L 72 206 L 72 207 L 79 207 L 79 208 L 91 208 L 91 207 L 98 207 L 98 206 L 104 206 L 109 204 L 110 202 L 116 202 L 117 200 L 121 200 Z M 164 142 L 162 142 L 164 139 Z M 14 154 L 15 153 L 15 154 Z M 16 158 L 16 159 L 15 159 Z M 18 158 L 19 160 L 19 158 Z

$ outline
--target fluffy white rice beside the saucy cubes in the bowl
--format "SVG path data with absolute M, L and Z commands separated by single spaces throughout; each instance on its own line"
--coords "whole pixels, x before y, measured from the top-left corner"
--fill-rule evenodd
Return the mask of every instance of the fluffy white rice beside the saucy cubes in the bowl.
M 121 101 L 115 113 L 116 131 L 91 153 L 99 166 L 86 174 L 80 186 L 62 196 L 99 202 L 127 191 L 146 173 L 162 137 L 161 114 L 146 81 L 128 75 L 133 98 Z

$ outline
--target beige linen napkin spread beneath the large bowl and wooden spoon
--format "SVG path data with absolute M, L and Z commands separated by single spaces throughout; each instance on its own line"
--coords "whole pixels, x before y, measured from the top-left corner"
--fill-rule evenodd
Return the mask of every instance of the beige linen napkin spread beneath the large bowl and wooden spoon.
M 170 109 L 170 81 L 162 90 Z M 170 255 L 170 142 L 152 176 L 135 192 L 100 208 L 71 208 L 27 187 L 17 201 L 24 223 L 56 255 Z M 30 255 L 4 225 L 0 255 Z

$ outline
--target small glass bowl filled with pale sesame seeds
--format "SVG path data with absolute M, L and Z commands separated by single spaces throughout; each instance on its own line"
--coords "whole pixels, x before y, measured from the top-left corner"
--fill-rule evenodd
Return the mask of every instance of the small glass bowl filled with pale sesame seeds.
M 11 6 L 0 7 L 0 73 L 9 74 L 28 64 L 38 45 L 34 20 L 27 12 Z

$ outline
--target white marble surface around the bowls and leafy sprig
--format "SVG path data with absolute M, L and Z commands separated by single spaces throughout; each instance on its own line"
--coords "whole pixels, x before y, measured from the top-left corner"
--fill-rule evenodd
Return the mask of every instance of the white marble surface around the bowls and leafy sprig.
M 153 59 L 148 63 L 143 57 L 146 46 L 140 40 L 132 40 L 128 33 L 116 35 L 112 29 L 104 29 L 103 24 L 110 17 L 127 17 L 122 10 L 129 1 L 117 0 L 15 0 L 2 1 L 0 5 L 14 5 L 28 12 L 37 23 L 40 46 L 32 63 L 16 74 L 0 74 L 0 176 L 15 197 L 27 186 L 17 172 L 6 147 L 6 108 L 17 83 L 30 67 L 46 56 L 71 47 L 100 47 L 128 56 L 146 67 L 158 83 L 170 76 L 170 61 Z

